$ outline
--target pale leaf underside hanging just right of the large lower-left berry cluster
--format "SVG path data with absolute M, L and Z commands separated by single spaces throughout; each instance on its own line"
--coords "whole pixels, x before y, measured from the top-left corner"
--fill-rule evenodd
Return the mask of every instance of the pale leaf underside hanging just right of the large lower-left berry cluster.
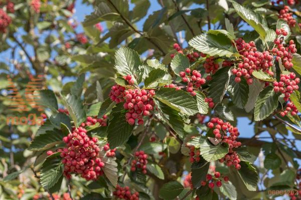
M 109 179 L 113 186 L 117 185 L 118 175 L 117 175 L 117 163 L 115 157 L 105 156 L 105 152 L 100 152 L 101 161 L 104 162 L 103 172 L 105 176 Z

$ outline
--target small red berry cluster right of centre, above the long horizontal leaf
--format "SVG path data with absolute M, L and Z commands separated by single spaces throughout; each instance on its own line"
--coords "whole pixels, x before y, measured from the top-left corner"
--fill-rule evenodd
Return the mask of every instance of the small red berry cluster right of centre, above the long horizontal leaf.
M 180 71 L 180 76 L 183 82 L 187 82 L 186 91 L 190 92 L 193 96 L 197 95 L 194 90 L 198 90 L 201 85 L 206 83 L 206 79 L 202 78 L 200 72 L 193 70 L 191 74 L 190 68 L 186 68 L 185 71 Z

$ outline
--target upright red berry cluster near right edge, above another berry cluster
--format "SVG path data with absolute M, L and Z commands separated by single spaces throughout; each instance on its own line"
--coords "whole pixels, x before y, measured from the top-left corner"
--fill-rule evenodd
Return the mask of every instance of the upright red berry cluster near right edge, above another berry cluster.
M 277 47 L 272 49 L 272 53 L 276 55 L 276 60 L 279 61 L 281 59 L 281 62 L 283 66 L 286 69 L 290 69 L 293 66 L 292 60 L 292 54 L 297 52 L 296 45 L 294 44 L 293 40 L 289 41 L 289 45 L 284 46 L 283 44 L 283 37 L 282 35 L 287 35 L 287 32 L 283 29 L 276 29 L 276 34 L 279 35 L 275 40 L 274 43 L 277 45 Z

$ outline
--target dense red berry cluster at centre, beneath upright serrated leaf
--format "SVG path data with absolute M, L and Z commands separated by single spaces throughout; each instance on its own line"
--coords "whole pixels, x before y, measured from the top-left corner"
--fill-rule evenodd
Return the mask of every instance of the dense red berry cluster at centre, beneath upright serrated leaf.
M 125 113 L 126 121 L 133 125 L 135 120 L 138 119 L 138 124 L 143 124 L 143 116 L 148 116 L 149 111 L 154 109 L 153 96 L 155 95 L 155 90 L 153 89 L 128 89 L 120 85 L 112 86 L 109 93 L 111 100 L 116 103 L 124 102 L 124 109 L 128 110 Z

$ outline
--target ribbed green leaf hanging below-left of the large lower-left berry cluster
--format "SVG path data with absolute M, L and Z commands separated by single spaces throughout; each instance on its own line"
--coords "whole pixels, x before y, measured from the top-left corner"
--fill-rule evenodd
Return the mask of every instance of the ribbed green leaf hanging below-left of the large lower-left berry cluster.
M 53 187 L 63 175 L 64 164 L 60 152 L 48 156 L 41 167 L 40 182 L 44 189 Z

